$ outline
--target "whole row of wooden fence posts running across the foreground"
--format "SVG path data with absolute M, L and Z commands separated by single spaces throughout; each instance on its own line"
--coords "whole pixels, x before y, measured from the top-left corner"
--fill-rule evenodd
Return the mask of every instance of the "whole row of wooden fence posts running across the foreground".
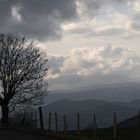
M 36 109 L 15 111 L 10 115 L 10 127 L 24 128 L 30 130 L 41 130 L 46 132 L 60 133 L 64 136 L 69 134 L 82 136 L 83 131 L 88 130 L 89 135 L 96 139 L 98 131 L 98 117 L 96 114 L 85 113 L 60 113 L 49 112 L 39 107 Z M 85 115 L 86 114 L 86 115 Z M 88 118 L 87 118 L 88 116 Z M 104 116 L 101 116 L 100 120 Z M 111 124 L 111 137 L 117 139 L 118 137 L 118 122 L 117 114 L 114 112 L 109 118 Z M 103 122 L 102 122 L 103 123 Z M 107 124 L 104 122 L 104 126 Z M 140 132 L 140 113 L 137 118 L 137 130 Z

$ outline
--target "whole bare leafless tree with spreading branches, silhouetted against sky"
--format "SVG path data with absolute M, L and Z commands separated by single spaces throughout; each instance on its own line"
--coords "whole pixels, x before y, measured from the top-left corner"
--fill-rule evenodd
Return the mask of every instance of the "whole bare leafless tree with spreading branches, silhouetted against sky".
M 2 123 L 17 104 L 39 104 L 47 90 L 46 55 L 25 37 L 0 34 L 0 106 Z

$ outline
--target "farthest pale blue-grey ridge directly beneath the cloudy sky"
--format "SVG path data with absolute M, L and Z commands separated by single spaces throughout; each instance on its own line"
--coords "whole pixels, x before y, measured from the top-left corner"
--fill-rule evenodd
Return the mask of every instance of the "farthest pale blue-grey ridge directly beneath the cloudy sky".
M 45 98 L 45 103 L 50 104 L 63 99 L 74 101 L 93 99 L 113 102 L 130 102 L 140 99 L 140 83 L 118 83 L 62 91 L 49 91 Z

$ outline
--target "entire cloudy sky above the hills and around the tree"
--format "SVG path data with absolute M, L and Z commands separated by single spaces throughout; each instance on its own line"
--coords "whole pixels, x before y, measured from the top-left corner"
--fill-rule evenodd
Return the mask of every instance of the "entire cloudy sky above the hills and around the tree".
M 140 81 L 140 0 L 0 0 L 0 19 L 47 53 L 52 90 Z

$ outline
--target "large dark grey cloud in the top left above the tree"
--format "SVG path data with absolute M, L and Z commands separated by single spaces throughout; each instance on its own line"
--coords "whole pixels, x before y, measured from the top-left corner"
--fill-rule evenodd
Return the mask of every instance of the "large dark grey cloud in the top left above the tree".
M 0 0 L 0 31 L 55 39 L 61 36 L 61 23 L 76 15 L 75 0 Z

